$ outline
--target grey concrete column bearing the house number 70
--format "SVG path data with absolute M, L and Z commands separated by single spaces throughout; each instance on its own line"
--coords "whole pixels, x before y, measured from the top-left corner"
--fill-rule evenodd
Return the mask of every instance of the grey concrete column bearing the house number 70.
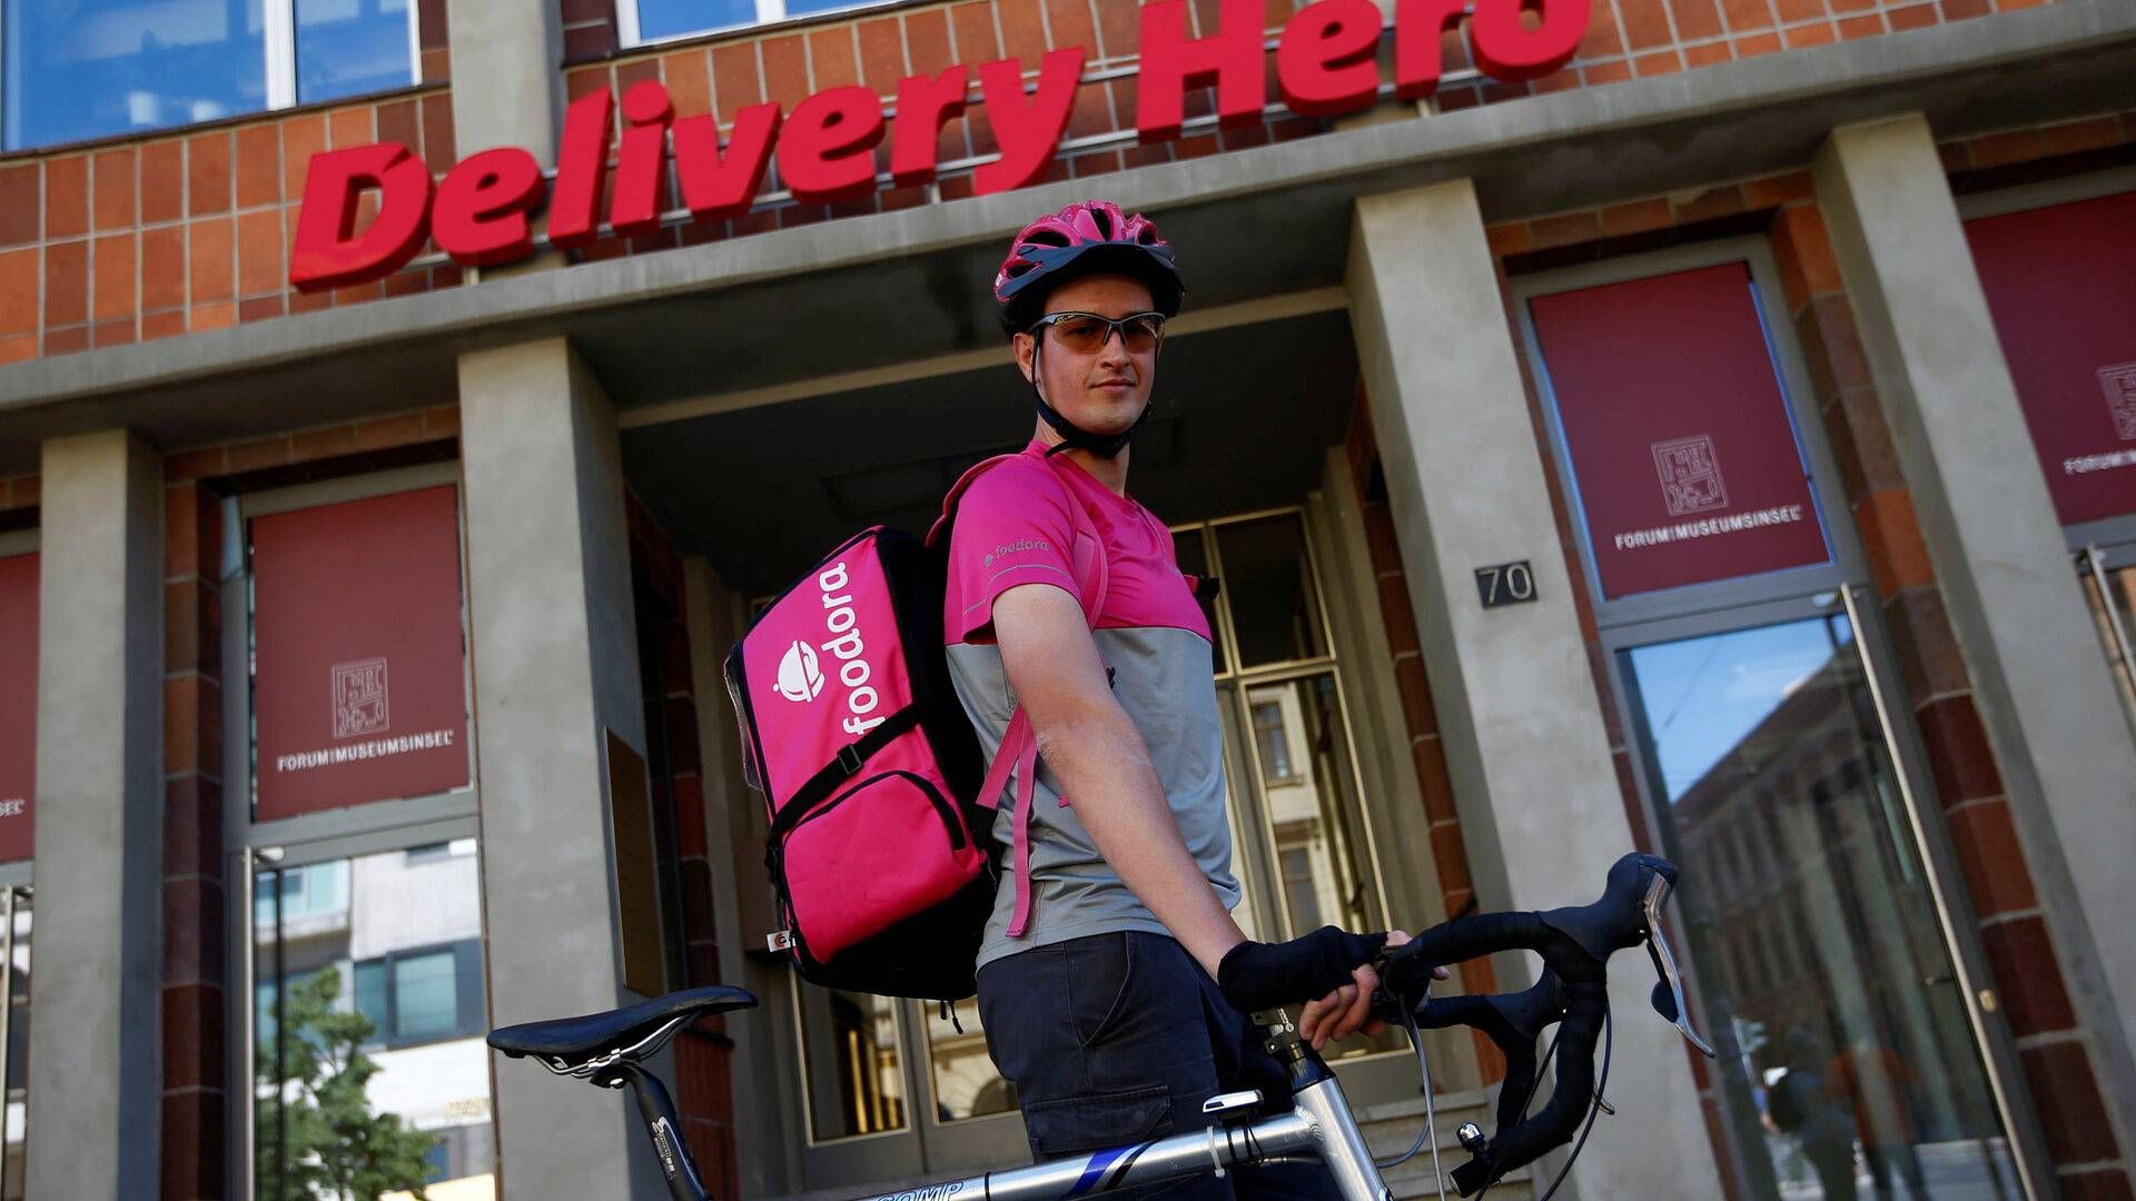
M 1585 904 L 1632 829 L 1474 184 L 1358 199 L 1346 286 L 1478 895 Z M 1538 600 L 1485 611 L 1474 568 L 1508 560 L 1534 564 Z M 1651 970 L 1613 966 L 1608 1092 L 1638 1105 L 1581 1152 L 1579 1195 L 1719 1197 L 1683 1047 L 1647 1007 Z

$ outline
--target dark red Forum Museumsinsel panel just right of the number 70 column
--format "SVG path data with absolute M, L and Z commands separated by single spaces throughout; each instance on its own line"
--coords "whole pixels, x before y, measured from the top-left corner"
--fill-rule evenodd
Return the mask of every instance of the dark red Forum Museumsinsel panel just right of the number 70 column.
M 1529 312 L 1604 596 L 1826 562 L 1743 263 Z

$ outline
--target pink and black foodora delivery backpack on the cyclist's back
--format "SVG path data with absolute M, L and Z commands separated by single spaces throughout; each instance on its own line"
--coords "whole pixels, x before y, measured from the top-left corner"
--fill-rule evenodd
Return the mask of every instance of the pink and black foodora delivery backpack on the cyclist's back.
M 810 983 L 882 996 L 972 996 L 993 913 L 993 810 L 1017 780 L 1010 936 L 1030 921 L 1032 778 L 1038 744 L 1017 709 L 993 765 L 951 686 L 942 650 L 951 487 L 921 543 L 871 526 L 756 615 L 726 656 L 743 774 L 765 795 L 765 865 L 784 930 L 767 945 Z M 1081 504 L 1072 564 L 1096 624 L 1106 564 Z

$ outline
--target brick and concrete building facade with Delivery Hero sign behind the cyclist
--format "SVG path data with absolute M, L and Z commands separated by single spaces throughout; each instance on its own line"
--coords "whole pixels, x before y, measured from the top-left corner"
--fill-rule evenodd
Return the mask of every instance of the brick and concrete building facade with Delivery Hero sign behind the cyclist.
M 1579 1197 L 2132 1197 L 2123 0 L 0 0 L 0 1197 L 654 1199 L 478 1039 L 703 983 L 718 1195 L 1023 1163 L 972 1007 L 765 951 L 720 662 L 1023 442 L 1094 194 L 1252 934 L 1658 851 L 1719 1058 L 1625 960 Z

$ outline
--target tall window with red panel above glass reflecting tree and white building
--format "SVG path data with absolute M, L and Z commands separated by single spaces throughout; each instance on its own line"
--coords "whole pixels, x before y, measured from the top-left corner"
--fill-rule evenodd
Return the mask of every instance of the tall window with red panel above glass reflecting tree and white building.
M 222 709 L 224 829 L 252 878 L 231 915 L 252 972 L 231 1021 L 252 1081 L 229 1116 L 239 1199 L 493 1197 L 455 474 L 224 502 L 222 654 L 250 665 Z M 350 560 L 378 571 L 333 571 Z

